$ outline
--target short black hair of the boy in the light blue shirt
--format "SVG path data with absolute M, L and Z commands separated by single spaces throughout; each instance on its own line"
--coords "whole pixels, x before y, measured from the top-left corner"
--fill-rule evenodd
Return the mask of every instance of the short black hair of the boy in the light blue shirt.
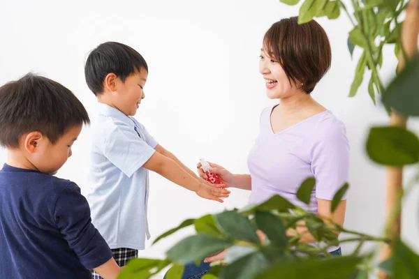
M 89 89 L 97 95 L 102 93 L 103 81 L 108 74 L 114 73 L 124 82 L 126 77 L 141 69 L 148 72 L 145 59 L 136 50 L 122 43 L 107 42 L 90 52 L 84 66 L 84 77 Z

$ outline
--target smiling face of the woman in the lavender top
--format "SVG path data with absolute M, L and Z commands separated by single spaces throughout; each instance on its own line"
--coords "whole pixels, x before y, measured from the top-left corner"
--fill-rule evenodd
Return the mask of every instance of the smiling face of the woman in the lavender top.
M 288 80 L 284 69 L 278 61 L 260 50 L 259 72 L 266 82 L 266 95 L 270 99 L 282 99 L 291 96 L 296 90 L 295 84 Z

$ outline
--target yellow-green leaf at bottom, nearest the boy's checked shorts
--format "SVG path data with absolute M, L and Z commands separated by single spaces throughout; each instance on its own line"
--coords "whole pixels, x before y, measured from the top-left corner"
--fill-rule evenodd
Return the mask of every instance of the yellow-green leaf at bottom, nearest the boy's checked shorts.
M 122 269 L 118 279 L 149 278 L 154 274 L 150 270 L 163 266 L 163 264 L 168 266 L 170 262 L 161 259 L 131 259 L 124 269 Z M 163 266 L 162 269 L 166 266 Z

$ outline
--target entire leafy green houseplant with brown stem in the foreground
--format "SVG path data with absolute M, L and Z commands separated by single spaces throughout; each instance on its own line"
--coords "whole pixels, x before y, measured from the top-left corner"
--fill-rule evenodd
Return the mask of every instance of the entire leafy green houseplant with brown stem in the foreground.
M 300 0 L 281 0 L 294 5 Z M 197 219 L 185 220 L 182 224 L 159 236 L 154 243 L 184 227 L 193 226 L 196 235 L 189 236 L 175 244 L 167 252 L 166 259 L 133 259 L 125 267 L 119 278 L 151 278 L 170 266 L 168 279 L 180 278 L 186 262 L 200 262 L 207 256 L 229 248 L 225 262 L 214 263 L 214 268 L 204 279 L 265 279 L 265 278 L 368 278 L 369 274 L 380 271 L 382 278 L 419 278 L 419 255 L 399 237 L 399 216 L 402 198 L 419 181 L 416 175 L 402 191 L 402 167 L 419 163 L 419 140 L 417 135 L 406 130 L 406 117 L 419 116 L 419 59 L 416 53 L 419 31 L 418 2 L 404 0 L 351 0 L 353 15 L 342 1 L 305 0 L 299 14 L 299 22 L 304 23 L 314 17 L 339 17 L 344 11 L 353 23 L 348 36 L 348 49 L 362 48 L 355 78 L 349 96 L 355 96 L 365 75 L 369 71 L 368 92 L 374 103 L 376 96 L 390 114 L 392 126 L 373 127 L 369 131 L 366 149 L 374 162 L 388 166 L 388 213 L 384 236 L 370 236 L 355 232 L 294 206 L 276 195 L 263 204 L 247 206 L 244 209 L 224 211 Z M 408 8 L 409 7 L 409 8 Z M 406 10 L 407 8 L 407 10 Z M 406 10 L 404 22 L 399 20 Z M 399 56 L 397 77 L 387 89 L 378 75 L 383 61 L 383 47 L 395 45 Z M 399 53 L 401 53 L 399 55 Z M 297 191 L 297 197 L 309 204 L 315 179 L 308 178 Z M 335 194 L 332 211 L 348 190 L 345 184 Z M 301 235 L 286 236 L 287 229 L 295 229 L 305 221 L 309 232 L 318 241 L 317 245 L 299 242 Z M 262 243 L 256 234 L 260 229 L 267 235 Z M 337 239 L 336 232 L 350 235 Z M 372 250 L 361 254 L 367 241 L 383 243 L 379 266 L 373 264 Z M 328 247 L 340 243 L 357 243 L 355 250 L 344 257 L 331 257 Z

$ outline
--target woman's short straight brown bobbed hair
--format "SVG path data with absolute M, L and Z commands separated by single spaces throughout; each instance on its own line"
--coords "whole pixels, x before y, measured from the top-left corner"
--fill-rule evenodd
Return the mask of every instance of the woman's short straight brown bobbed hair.
M 265 33 L 263 50 L 306 93 L 313 91 L 332 62 L 328 35 L 315 20 L 298 24 L 297 17 L 290 17 L 275 22 Z

